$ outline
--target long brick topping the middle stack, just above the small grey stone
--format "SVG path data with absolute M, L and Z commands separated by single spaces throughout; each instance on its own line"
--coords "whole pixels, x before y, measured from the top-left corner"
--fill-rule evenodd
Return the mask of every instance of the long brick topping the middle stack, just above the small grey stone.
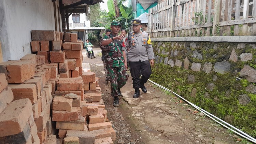
M 83 81 L 79 80 L 67 80 L 65 78 L 60 78 L 59 82 L 57 83 L 57 90 L 63 91 L 72 91 L 72 90 L 82 90 L 83 88 Z

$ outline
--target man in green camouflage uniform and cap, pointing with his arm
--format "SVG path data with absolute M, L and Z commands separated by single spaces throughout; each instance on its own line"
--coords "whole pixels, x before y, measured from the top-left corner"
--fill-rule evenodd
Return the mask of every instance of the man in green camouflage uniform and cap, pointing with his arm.
M 111 33 L 105 35 L 101 41 L 102 46 L 106 46 L 106 68 L 110 77 L 111 96 L 114 97 L 114 107 L 119 106 L 119 98 L 121 96 L 120 88 L 122 88 L 128 79 L 126 70 L 127 62 L 125 55 L 125 44 L 123 42 L 124 35 L 117 35 L 121 25 L 119 21 L 111 22 Z

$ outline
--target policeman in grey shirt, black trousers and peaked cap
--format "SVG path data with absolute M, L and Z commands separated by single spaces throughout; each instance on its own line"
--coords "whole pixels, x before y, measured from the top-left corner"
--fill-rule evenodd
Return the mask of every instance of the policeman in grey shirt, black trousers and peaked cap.
M 151 66 L 154 65 L 154 52 L 150 36 L 145 31 L 141 31 L 141 20 L 132 20 L 131 39 L 126 40 L 125 46 L 127 57 L 130 63 L 130 72 L 132 76 L 132 85 L 135 89 L 133 98 L 140 96 L 140 89 L 146 93 L 144 84 L 151 75 Z M 140 74 L 142 77 L 140 78 Z

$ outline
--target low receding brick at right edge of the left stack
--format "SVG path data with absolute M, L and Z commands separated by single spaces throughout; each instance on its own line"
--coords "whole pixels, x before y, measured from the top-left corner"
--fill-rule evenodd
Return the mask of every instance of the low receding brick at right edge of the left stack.
M 40 114 L 38 119 L 35 119 L 35 124 L 37 125 L 37 131 L 43 131 L 46 128 L 47 120 L 50 116 L 50 103 L 47 103 Z

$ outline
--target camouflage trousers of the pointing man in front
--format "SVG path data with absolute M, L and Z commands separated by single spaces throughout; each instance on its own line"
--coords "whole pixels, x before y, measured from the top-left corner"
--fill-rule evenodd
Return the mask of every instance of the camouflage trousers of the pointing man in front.
M 106 66 L 108 77 L 110 77 L 111 96 L 118 96 L 118 88 L 122 88 L 128 80 L 125 67 L 110 68 Z

